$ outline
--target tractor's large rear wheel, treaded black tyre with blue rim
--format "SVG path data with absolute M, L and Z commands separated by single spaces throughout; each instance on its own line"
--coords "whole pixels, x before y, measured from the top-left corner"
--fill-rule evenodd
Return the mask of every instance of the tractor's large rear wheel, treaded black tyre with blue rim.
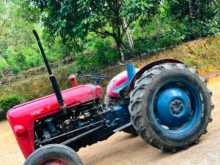
M 130 94 L 134 128 L 145 142 L 166 152 L 198 143 L 207 132 L 213 108 L 205 79 L 184 64 L 153 67 Z

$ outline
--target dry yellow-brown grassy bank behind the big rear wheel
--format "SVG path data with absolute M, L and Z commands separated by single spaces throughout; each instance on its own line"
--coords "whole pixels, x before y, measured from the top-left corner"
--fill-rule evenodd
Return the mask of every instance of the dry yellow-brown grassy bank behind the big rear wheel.
M 141 67 L 146 63 L 164 58 L 174 58 L 183 61 L 197 69 L 201 75 L 217 72 L 220 70 L 220 37 L 210 37 L 188 42 L 141 60 L 135 59 L 134 62 Z

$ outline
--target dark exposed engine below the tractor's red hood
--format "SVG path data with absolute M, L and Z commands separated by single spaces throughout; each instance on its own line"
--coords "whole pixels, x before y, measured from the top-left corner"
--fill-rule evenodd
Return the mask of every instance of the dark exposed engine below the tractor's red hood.
M 103 126 L 102 113 L 103 108 L 97 100 L 69 108 L 65 115 L 57 113 L 35 121 L 35 148 L 46 144 L 63 143 L 78 150 L 91 141 L 91 139 L 82 141 L 83 133 Z M 82 137 L 80 145 L 75 144 L 76 142 L 79 144 L 78 137 Z

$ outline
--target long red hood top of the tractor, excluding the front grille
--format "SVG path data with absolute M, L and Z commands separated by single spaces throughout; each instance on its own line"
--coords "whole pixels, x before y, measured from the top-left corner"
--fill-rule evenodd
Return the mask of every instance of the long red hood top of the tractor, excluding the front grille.
M 79 85 L 62 91 L 65 105 L 73 107 L 99 98 L 101 88 L 94 85 Z M 9 110 L 7 117 L 9 122 L 15 118 L 25 118 L 27 116 L 38 119 L 48 116 L 50 113 L 59 111 L 59 104 L 54 94 L 45 96 L 24 104 L 17 105 Z M 49 113 L 49 114 L 48 114 Z

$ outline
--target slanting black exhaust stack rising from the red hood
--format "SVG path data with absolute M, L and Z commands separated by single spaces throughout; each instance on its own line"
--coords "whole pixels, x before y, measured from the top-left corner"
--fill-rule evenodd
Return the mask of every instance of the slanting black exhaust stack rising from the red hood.
M 64 100 L 63 100 L 63 97 L 62 97 L 62 94 L 61 94 L 60 87 L 59 87 L 59 85 L 57 83 L 56 77 L 52 73 L 50 64 L 49 64 L 48 59 L 46 57 L 46 54 L 45 54 L 44 48 L 42 46 L 42 43 L 40 41 L 39 35 L 38 35 L 36 30 L 33 30 L 33 33 L 34 33 L 35 39 L 37 41 L 40 53 L 41 53 L 41 55 L 43 57 L 45 66 L 47 68 L 47 71 L 48 71 L 48 74 L 49 74 L 49 80 L 51 82 L 53 91 L 54 91 L 54 93 L 56 95 L 57 102 L 59 103 L 61 110 L 63 110 L 65 112 L 66 107 L 65 107 Z

